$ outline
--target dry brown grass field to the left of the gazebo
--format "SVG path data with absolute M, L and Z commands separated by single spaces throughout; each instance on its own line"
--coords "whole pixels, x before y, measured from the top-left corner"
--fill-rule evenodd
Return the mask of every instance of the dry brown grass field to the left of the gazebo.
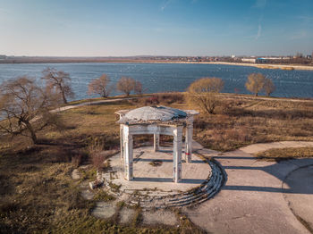
M 121 226 L 114 220 L 90 215 L 94 201 L 80 196 L 72 170 L 89 162 L 88 146 L 100 138 L 106 149 L 118 148 L 119 127 L 114 112 L 133 108 L 128 102 L 99 104 L 95 114 L 88 106 L 61 113 L 63 130 L 41 131 L 44 144 L 31 146 L 28 138 L 0 139 L 1 233 L 179 233 L 173 228 Z M 95 170 L 83 175 L 95 179 Z M 104 194 L 98 199 L 111 200 Z

